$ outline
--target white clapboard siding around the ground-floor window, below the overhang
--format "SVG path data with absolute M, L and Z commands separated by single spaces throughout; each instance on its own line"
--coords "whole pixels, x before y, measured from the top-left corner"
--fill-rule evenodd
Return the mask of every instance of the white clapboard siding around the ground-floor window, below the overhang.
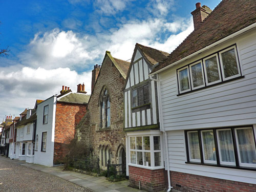
M 255 133 L 254 127 L 254 133 Z M 185 135 L 183 130 L 168 131 L 168 157 L 170 170 L 206 177 L 256 184 L 255 171 L 235 168 L 186 164 Z

